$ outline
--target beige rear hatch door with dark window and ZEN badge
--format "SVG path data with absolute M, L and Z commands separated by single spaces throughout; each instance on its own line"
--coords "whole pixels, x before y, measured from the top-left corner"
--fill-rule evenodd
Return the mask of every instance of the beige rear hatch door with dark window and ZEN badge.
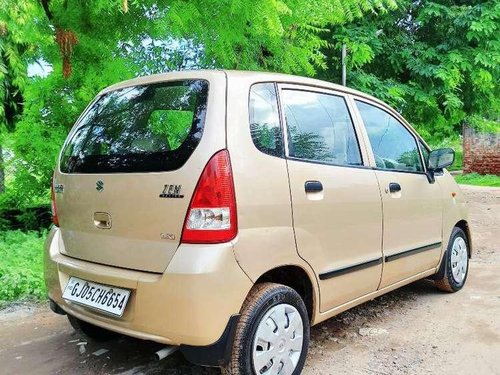
M 167 76 L 105 92 L 70 133 L 54 176 L 61 253 L 166 269 L 198 178 L 225 147 L 226 84 L 222 72 Z

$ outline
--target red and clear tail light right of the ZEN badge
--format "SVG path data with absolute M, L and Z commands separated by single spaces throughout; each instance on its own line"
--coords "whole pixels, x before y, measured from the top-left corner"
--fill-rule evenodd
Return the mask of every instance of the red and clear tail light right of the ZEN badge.
M 196 185 L 189 205 L 183 243 L 221 243 L 231 241 L 238 233 L 236 198 L 229 152 L 217 152 Z

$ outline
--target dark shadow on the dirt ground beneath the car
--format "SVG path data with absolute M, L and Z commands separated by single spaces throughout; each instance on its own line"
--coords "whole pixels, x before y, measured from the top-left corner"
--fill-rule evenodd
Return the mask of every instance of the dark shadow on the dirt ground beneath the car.
M 432 282 L 420 280 L 354 307 L 312 327 L 312 345 L 331 342 L 332 338 L 348 343 L 349 338 L 357 335 L 359 327 L 375 325 L 385 317 L 404 309 L 411 309 L 413 304 L 418 303 L 419 297 L 430 294 L 437 296 L 443 292 L 438 291 Z M 82 365 L 82 370 L 92 368 L 93 373 L 119 375 L 220 374 L 216 368 L 189 363 L 179 351 L 162 361 L 156 361 L 154 353 L 161 348 L 161 344 L 125 336 L 105 343 L 89 342 L 87 348 L 89 353 L 99 349 L 107 349 L 108 352 L 99 357 L 89 354 Z

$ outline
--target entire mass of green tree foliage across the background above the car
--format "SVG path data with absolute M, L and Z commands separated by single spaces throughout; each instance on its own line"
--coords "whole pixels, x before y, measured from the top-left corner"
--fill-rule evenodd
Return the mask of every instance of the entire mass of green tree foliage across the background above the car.
M 342 44 L 348 84 L 398 108 L 429 142 L 458 139 L 464 123 L 500 131 L 497 0 L 125 4 L 0 0 L 0 128 L 14 132 L 0 138 L 8 147 L 5 204 L 24 208 L 48 199 L 64 138 L 111 83 L 186 68 L 338 82 Z M 52 72 L 28 78 L 28 64 L 39 61 Z

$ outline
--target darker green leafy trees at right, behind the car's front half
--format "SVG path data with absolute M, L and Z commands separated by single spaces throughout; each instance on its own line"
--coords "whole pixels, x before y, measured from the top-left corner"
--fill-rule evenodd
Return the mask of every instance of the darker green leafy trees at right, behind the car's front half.
M 333 28 L 322 75 L 339 81 L 345 43 L 348 84 L 398 108 L 428 141 L 464 123 L 498 129 L 499 17 L 497 0 L 399 0 L 396 11 Z

